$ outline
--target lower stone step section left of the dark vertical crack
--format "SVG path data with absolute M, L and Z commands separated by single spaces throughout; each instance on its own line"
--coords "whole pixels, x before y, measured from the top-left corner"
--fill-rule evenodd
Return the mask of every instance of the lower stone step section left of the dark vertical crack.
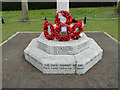
M 25 49 L 25 59 L 43 73 L 74 73 L 73 55 L 50 55 L 39 49 L 37 39 L 33 39 Z

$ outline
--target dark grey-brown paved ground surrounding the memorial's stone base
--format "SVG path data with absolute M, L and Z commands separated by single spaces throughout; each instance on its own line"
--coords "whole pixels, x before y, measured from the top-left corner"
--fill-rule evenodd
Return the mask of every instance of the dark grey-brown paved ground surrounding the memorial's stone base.
M 3 88 L 117 88 L 118 43 L 103 32 L 86 34 L 104 50 L 100 62 L 84 75 L 44 75 L 23 55 L 40 33 L 18 33 L 2 46 Z

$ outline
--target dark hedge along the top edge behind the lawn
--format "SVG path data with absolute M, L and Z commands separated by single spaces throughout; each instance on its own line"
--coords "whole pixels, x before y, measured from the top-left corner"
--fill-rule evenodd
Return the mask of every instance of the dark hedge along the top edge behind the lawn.
M 29 2 L 29 9 L 52 9 L 56 8 L 56 2 Z M 77 7 L 105 7 L 114 6 L 116 2 L 70 2 L 70 8 Z M 2 10 L 21 10 L 21 2 L 2 2 Z

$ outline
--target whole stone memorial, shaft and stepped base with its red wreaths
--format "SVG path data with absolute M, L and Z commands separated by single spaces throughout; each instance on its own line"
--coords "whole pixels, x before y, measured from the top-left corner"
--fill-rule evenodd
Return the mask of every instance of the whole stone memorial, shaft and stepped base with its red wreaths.
M 103 50 L 83 32 L 82 21 L 72 18 L 69 0 L 57 0 L 55 18 L 54 26 L 45 19 L 44 33 L 24 50 L 25 59 L 44 74 L 84 74 L 101 60 Z

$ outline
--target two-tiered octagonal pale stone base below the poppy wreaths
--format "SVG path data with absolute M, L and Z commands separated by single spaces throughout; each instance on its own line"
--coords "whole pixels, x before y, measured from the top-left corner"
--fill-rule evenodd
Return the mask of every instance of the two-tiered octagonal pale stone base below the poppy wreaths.
M 84 74 L 99 60 L 103 50 L 85 33 L 79 40 L 47 40 L 43 33 L 24 50 L 25 59 L 44 74 Z

